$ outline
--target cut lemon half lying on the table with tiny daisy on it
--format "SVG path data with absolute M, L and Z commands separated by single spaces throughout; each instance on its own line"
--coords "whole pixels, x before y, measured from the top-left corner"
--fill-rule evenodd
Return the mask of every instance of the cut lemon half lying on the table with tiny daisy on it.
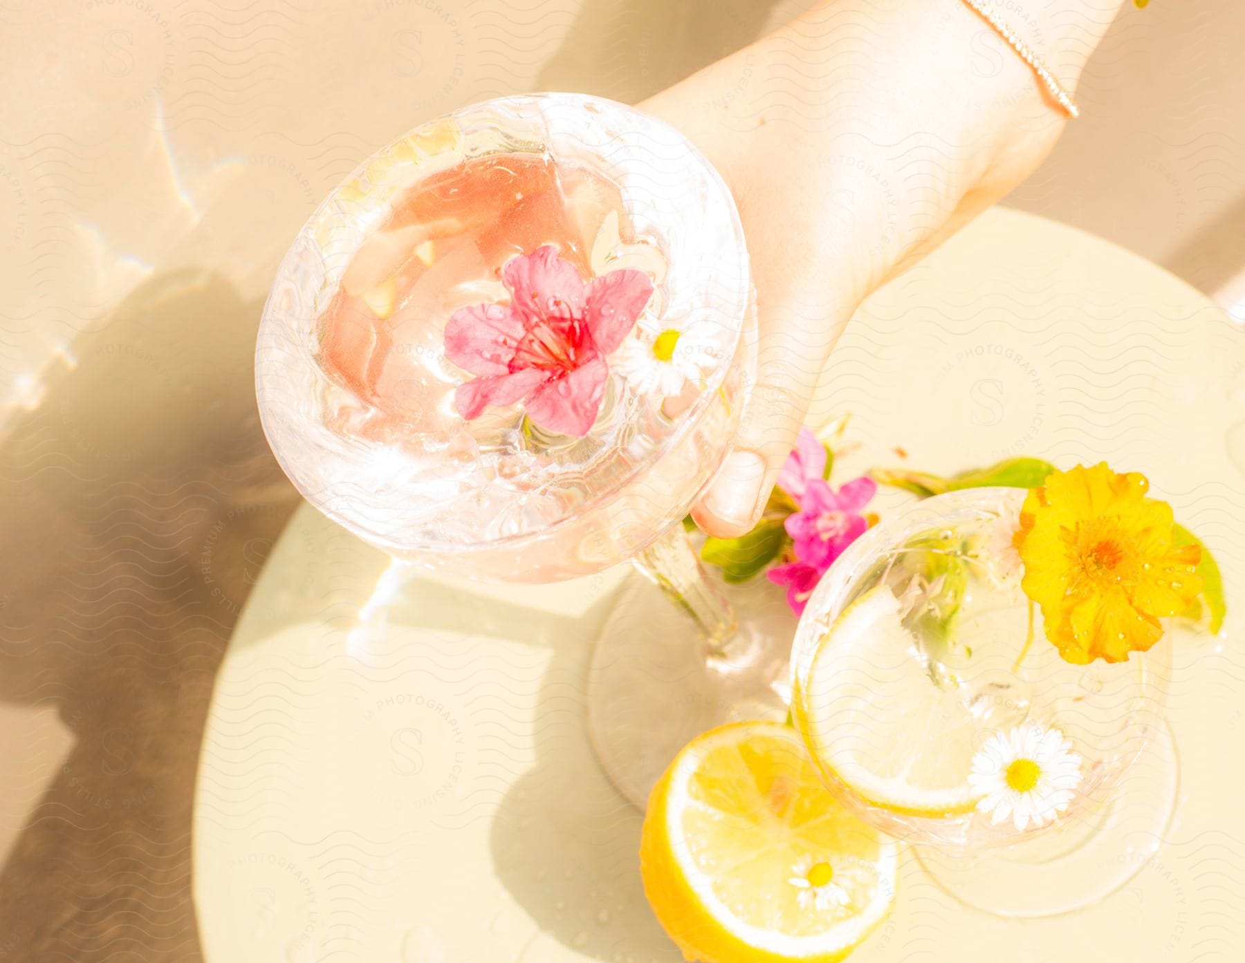
M 890 911 L 895 844 L 825 790 L 787 725 L 723 725 L 652 790 L 645 895 L 687 959 L 842 959 Z

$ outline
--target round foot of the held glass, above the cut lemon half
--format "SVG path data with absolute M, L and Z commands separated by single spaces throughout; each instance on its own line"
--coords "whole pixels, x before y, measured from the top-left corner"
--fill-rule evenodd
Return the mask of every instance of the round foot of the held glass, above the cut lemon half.
M 787 718 L 796 618 L 763 576 L 725 592 L 738 628 L 721 652 L 639 572 L 624 582 L 596 642 L 588 732 L 606 775 L 641 810 L 670 760 L 701 733 Z

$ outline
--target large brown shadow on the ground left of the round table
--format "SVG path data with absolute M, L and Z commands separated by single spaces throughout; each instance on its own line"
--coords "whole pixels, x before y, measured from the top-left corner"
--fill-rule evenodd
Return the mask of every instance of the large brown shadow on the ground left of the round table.
M 199 958 L 190 811 L 212 682 L 298 503 L 255 412 L 260 302 L 157 275 L 31 372 L 0 435 L 0 699 L 54 705 L 0 871 L 0 957 Z M 81 322 L 80 322 L 81 323 Z M 37 791 L 37 790 L 35 790 Z

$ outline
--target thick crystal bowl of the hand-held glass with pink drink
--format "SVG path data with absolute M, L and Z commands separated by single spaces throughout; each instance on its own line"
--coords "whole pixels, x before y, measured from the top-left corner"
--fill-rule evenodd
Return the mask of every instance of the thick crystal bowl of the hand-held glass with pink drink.
M 515 264 L 540 258 L 585 292 L 651 290 L 593 358 L 583 430 L 527 382 L 467 411 L 486 370 L 447 351 L 456 312 L 523 307 Z M 615 310 L 584 297 L 583 323 Z M 721 463 L 751 299 L 730 193 L 677 132 L 578 95 L 477 105 L 380 151 L 296 239 L 260 331 L 264 428 L 309 500 L 393 555 L 473 579 L 595 572 L 670 530 Z M 561 310 L 518 348 L 550 378 L 595 351 Z M 686 377 L 629 367 L 675 342 L 696 347 Z

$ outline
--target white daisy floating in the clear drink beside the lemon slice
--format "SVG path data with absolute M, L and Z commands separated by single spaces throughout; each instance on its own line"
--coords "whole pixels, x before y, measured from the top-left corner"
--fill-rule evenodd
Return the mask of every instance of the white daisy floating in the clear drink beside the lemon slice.
M 1081 756 L 1058 729 L 1038 723 L 991 735 L 972 756 L 969 783 L 985 793 L 977 809 L 991 822 L 1010 815 L 1017 830 L 1041 826 L 1068 807 L 1081 783 Z

